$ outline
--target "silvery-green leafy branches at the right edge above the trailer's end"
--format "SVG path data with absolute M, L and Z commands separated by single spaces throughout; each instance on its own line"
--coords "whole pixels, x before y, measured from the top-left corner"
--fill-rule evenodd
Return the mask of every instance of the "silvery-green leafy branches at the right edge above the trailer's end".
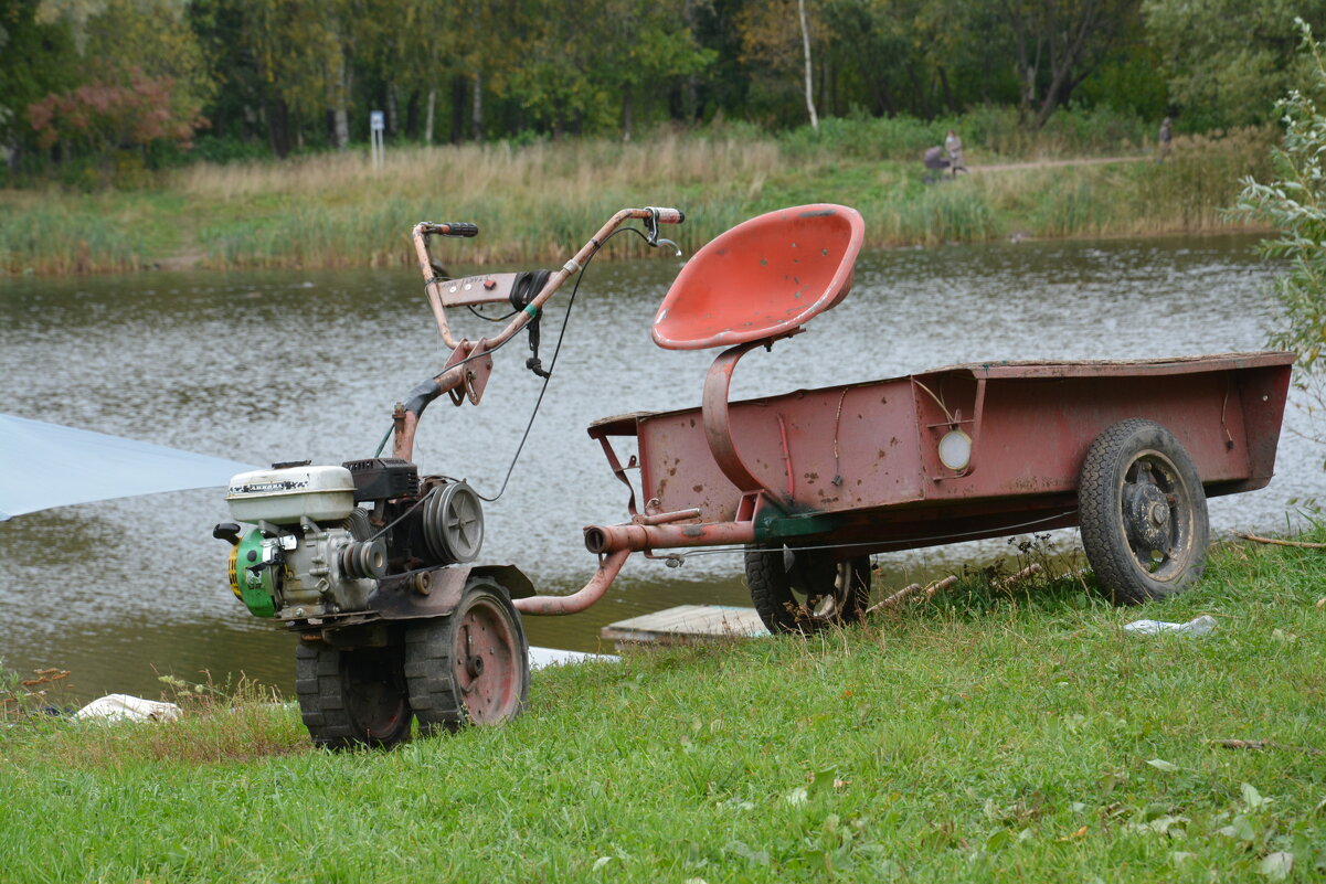
M 1285 310 L 1285 327 L 1272 343 L 1298 353 L 1307 372 L 1326 375 L 1326 42 L 1297 19 L 1302 34 L 1302 89 L 1292 89 L 1276 103 L 1285 123 L 1282 147 L 1272 155 L 1276 180 L 1244 182 L 1238 211 L 1269 221 L 1277 236 L 1264 243 L 1270 257 L 1288 261 L 1276 280 L 1276 297 Z

